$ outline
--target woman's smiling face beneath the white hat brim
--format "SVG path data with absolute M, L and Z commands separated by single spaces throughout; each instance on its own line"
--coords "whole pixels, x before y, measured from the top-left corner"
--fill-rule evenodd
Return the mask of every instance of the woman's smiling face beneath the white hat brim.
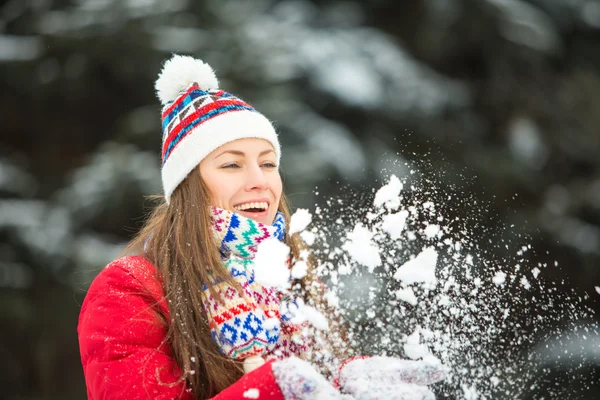
M 226 143 L 206 156 L 199 169 L 213 206 L 273 224 L 283 185 L 270 142 L 238 139 Z

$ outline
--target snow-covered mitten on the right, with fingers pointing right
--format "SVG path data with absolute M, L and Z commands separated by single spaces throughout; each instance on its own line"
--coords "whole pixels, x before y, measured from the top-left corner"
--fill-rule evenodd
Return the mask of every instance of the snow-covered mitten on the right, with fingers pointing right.
M 342 366 L 339 383 L 342 391 L 361 400 L 429 400 L 435 396 L 425 385 L 446 374 L 447 368 L 439 363 L 371 357 Z

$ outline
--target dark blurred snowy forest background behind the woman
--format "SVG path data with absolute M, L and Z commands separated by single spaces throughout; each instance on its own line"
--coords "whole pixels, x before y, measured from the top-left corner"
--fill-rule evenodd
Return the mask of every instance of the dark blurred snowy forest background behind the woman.
M 85 398 L 79 306 L 161 191 L 173 52 L 276 122 L 295 206 L 428 170 L 600 309 L 600 1 L 0 1 L 2 398 Z

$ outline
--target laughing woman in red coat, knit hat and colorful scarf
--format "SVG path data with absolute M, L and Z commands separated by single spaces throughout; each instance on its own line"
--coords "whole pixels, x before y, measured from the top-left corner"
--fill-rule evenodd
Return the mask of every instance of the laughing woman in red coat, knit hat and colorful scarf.
M 261 241 L 284 241 L 292 259 L 301 250 L 285 234 L 271 122 L 190 57 L 167 61 L 156 89 L 164 199 L 128 245 L 134 255 L 109 264 L 82 305 L 88 398 L 345 397 L 301 360 L 340 356 L 340 341 L 306 337 L 290 311 L 296 299 L 254 281 Z M 309 274 L 300 286 L 320 306 L 315 282 Z

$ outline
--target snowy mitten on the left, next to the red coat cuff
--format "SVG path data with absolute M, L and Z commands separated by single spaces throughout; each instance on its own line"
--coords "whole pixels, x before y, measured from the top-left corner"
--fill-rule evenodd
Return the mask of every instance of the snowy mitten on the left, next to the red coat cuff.
M 341 394 L 307 361 L 290 357 L 273 363 L 273 375 L 285 400 L 352 400 Z

